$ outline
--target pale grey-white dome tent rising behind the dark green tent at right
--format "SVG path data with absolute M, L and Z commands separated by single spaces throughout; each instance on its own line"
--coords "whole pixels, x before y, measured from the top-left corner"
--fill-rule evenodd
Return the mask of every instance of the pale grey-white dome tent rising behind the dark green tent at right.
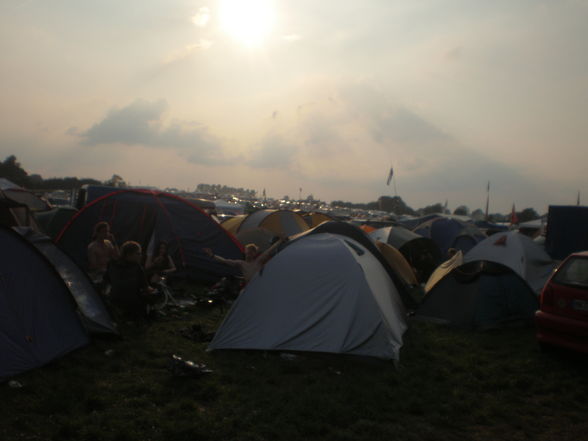
M 507 266 L 537 294 L 555 268 L 555 262 L 539 244 L 516 231 L 493 234 L 464 257 L 464 263 L 480 260 Z

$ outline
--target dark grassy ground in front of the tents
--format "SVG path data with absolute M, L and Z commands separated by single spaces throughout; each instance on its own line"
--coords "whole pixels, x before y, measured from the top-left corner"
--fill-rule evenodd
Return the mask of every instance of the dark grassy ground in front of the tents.
M 588 439 L 588 361 L 539 351 L 532 329 L 469 333 L 414 322 L 401 362 L 205 352 L 191 307 L 0 384 L 0 440 Z M 171 354 L 211 374 L 176 377 Z

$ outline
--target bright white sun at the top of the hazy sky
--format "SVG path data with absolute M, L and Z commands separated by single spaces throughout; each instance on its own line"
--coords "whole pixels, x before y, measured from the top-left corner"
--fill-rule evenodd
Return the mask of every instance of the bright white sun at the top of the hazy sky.
M 239 43 L 255 48 L 262 45 L 275 22 L 272 0 L 221 0 L 221 28 Z

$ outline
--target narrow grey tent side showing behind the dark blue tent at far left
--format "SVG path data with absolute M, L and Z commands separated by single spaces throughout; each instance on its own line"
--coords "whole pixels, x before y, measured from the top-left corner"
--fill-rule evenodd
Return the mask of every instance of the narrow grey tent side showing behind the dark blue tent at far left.
M 78 306 L 82 323 L 88 332 L 116 334 L 116 326 L 100 295 L 81 268 L 44 234 L 30 228 L 14 230 L 34 245 L 59 273 Z

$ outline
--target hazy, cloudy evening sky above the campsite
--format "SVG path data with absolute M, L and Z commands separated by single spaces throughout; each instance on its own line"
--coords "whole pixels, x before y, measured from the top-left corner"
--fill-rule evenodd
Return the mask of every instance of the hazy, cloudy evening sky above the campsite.
M 584 0 L 7 0 L 0 159 L 274 198 L 473 210 L 490 182 L 490 212 L 585 204 L 586 23 Z

